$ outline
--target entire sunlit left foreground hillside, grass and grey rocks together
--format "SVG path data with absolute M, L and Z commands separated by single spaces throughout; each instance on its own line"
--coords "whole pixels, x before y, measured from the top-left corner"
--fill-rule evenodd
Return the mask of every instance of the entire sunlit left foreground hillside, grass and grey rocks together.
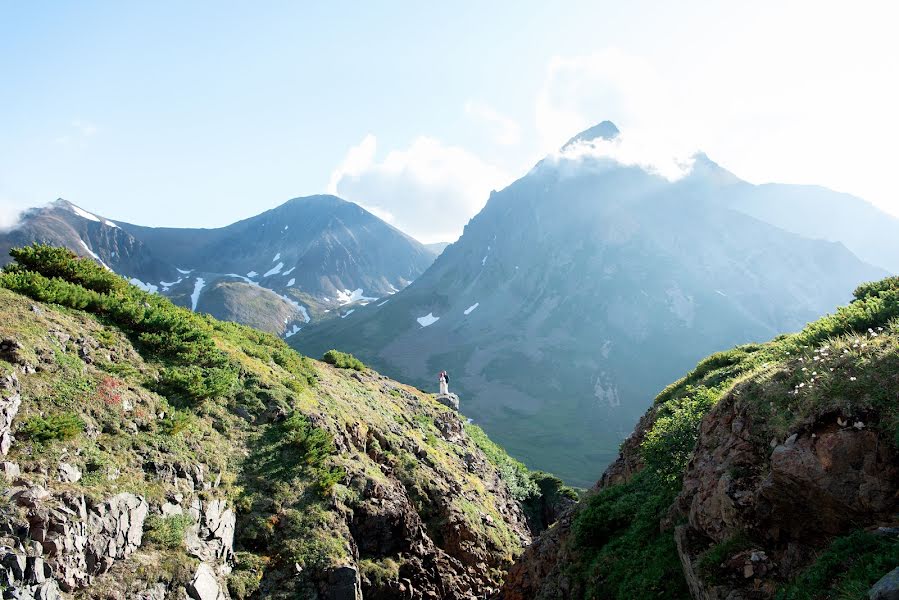
M 352 357 L 301 357 L 64 249 L 14 254 L 4 597 L 483 598 L 572 502 Z

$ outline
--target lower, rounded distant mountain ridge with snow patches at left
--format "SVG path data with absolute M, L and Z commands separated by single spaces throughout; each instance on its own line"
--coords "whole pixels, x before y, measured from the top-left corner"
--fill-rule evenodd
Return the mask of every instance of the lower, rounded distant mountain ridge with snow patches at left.
M 283 335 L 393 294 L 434 260 L 409 236 L 334 196 L 295 198 L 218 229 L 142 227 L 57 200 L 0 234 L 0 264 L 10 247 L 34 241 L 91 256 L 182 306 Z

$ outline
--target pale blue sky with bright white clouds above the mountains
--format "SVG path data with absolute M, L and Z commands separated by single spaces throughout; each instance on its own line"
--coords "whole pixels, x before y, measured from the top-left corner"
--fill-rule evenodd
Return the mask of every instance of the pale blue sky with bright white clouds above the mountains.
M 897 22 L 888 1 L 2 3 L 0 227 L 57 197 L 217 227 L 335 193 L 450 241 L 606 119 L 644 162 L 702 150 L 899 215 Z

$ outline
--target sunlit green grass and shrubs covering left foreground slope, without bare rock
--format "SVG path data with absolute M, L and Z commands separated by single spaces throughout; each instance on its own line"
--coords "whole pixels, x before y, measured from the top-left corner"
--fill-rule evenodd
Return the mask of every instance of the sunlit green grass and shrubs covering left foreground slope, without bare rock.
M 120 285 L 90 261 L 20 257 L 49 259 L 60 259 L 62 267 L 32 264 L 0 276 L 0 288 L 21 292 L 0 289 L 0 339 L 20 345 L 16 357 L 6 358 L 38 367 L 20 376 L 23 403 L 10 459 L 23 471 L 52 472 L 65 459 L 85 473 L 65 486 L 73 492 L 101 499 L 132 491 L 158 504 L 172 490 L 147 465 L 206 465 L 207 480 L 220 480 L 214 494 L 238 509 L 231 576 L 237 597 L 256 589 L 263 575 L 273 596 L 276 589 L 297 593 L 283 584 L 297 581 L 295 564 L 314 577 L 351 562 L 345 515 L 367 485 L 383 479 L 385 466 L 409 490 L 429 529 L 440 526 L 428 519 L 436 518 L 434 499 L 450 497 L 471 529 L 489 538 L 499 562 L 520 552 L 519 532 L 464 457 L 496 465 L 490 468 L 519 499 L 533 499 L 536 485 L 480 432 L 463 433 L 453 443 L 444 439 L 435 420 L 448 409 L 429 395 L 368 370 L 300 357 L 274 336 Z M 35 304 L 25 294 L 58 304 Z M 211 347 L 196 350 L 207 341 Z M 0 360 L 0 374 L 13 368 Z M 73 427 L 61 428 L 66 422 Z M 367 440 L 367 452 L 352 440 Z M 443 489 L 447 482 L 454 483 L 452 494 Z M 491 517 L 489 527 L 484 515 Z M 134 579 L 189 576 L 191 559 L 177 543 L 177 525 L 154 522 L 175 529 L 173 547 L 142 549 L 129 561 L 139 568 L 108 585 L 127 589 Z M 165 539 L 166 532 L 151 538 Z M 390 558 L 379 560 L 389 564 Z

